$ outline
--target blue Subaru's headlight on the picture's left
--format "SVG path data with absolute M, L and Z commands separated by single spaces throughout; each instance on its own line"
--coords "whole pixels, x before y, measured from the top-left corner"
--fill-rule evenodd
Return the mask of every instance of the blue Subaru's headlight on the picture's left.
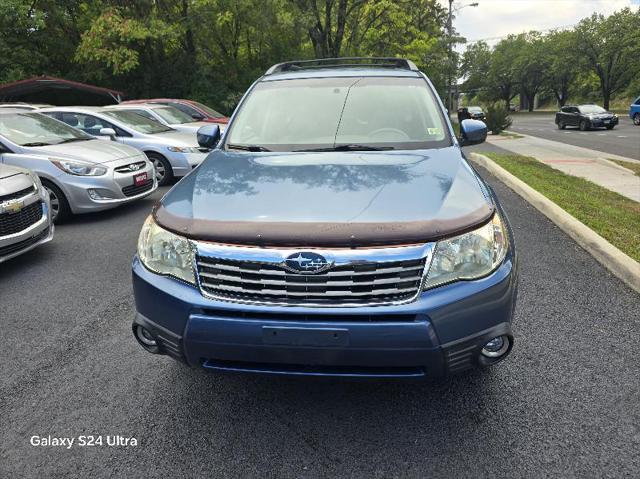
M 195 284 L 193 251 L 186 238 L 156 224 L 149 216 L 138 238 L 138 257 L 151 271 Z

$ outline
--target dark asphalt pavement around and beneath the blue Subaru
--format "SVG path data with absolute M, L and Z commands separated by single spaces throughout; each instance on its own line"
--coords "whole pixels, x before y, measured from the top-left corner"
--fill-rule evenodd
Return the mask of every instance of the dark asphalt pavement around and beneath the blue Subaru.
M 519 248 L 510 359 L 436 383 L 218 376 L 133 340 L 154 197 L 0 266 L 0 477 L 632 477 L 640 301 L 486 172 Z M 121 435 L 134 447 L 36 447 Z

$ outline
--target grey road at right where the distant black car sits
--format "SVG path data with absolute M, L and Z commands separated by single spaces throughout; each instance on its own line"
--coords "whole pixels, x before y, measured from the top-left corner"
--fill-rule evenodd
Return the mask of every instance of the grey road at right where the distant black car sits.
M 628 116 L 619 116 L 620 124 L 613 130 L 580 131 L 572 127 L 558 130 L 551 113 L 518 113 L 511 117 L 510 130 L 640 160 L 640 126 L 635 126 Z

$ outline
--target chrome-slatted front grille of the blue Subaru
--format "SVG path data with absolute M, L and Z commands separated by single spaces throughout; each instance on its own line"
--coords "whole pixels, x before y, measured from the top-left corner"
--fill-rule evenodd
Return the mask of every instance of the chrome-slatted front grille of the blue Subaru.
M 278 264 L 198 256 L 203 292 L 220 299 L 260 303 L 385 304 L 418 294 L 425 258 L 335 266 L 322 273 L 292 273 Z

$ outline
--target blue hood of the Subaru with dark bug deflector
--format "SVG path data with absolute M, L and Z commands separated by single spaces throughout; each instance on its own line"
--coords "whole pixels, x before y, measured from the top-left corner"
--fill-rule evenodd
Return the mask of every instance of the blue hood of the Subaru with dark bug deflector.
M 156 206 L 176 233 L 232 244 L 364 246 L 431 241 L 494 205 L 460 150 L 215 150 Z

